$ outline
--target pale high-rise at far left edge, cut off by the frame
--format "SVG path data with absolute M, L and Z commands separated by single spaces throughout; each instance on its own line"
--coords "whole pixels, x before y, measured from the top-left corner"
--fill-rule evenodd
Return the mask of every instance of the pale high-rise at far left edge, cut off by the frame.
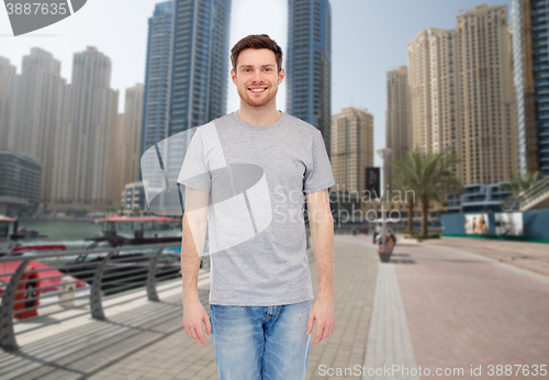
M 10 59 L 0 57 L 0 150 L 9 149 L 11 96 L 16 74 Z

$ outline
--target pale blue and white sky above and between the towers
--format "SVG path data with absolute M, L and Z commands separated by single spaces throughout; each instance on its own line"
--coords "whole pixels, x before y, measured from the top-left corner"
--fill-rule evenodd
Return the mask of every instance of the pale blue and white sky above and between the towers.
M 32 47 L 41 47 L 61 62 L 61 76 L 70 82 L 72 55 L 86 46 L 96 46 L 112 60 L 111 87 L 120 91 L 119 111 L 123 112 L 125 89 L 145 80 L 147 19 L 157 2 L 88 0 L 70 18 L 18 37 L 13 36 L 7 12 L 0 10 L 0 56 L 9 58 L 20 74 L 22 57 Z M 407 64 L 408 42 L 423 29 L 456 27 L 460 12 L 480 4 L 507 5 L 511 13 L 511 2 L 332 0 L 332 114 L 349 105 L 367 109 L 373 114 L 374 149 L 384 147 L 386 71 Z M 242 37 L 258 33 L 269 34 L 285 52 L 287 0 L 233 0 L 229 47 Z M 238 109 L 239 99 L 231 81 L 227 88 L 228 113 Z M 282 83 L 277 98 L 282 111 L 285 91 Z M 374 165 L 381 166 L 377 154 Z

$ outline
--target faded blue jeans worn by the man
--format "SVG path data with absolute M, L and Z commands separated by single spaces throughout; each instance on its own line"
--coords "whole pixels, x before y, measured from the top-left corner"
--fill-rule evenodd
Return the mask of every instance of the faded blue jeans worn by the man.
M 312 301 L 280 306 L 210 305 L 220 380 L 303 380 Z

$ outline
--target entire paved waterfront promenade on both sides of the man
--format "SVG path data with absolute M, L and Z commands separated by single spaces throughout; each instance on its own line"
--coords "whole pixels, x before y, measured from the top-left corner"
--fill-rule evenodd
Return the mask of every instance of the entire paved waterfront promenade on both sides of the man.
M 399 238 L 392 262 L 379 264 L 371 236 L 336 235 L 336 326 L 312 347 L 306 379 L 421 378 L 380 375 L 384 366 L 421 366 L 434 379 L 547 378 L 515 375 L 517 367 L 513 376 L 490 376 L 489 366 L 549 365 L 549 277 L 460 244 Z M 518 243 L 517 255 L 531 247 Z M 536 256 L 538 265 L 546 255 Z M 311 271 L 316 294 L 314 259 Z M 206 310 L 209 284 L 201 272 Z M 180 280 L 163 284 L 159 297 L 155 303 L 133 293 L 105 310 L 108 321 L 80 316 L 19 339 L 19 353 L 0 353 L 0 378 L 217 379 L 211 336 L 202 346 L 182 328 Z M 480 376 L 471 375 L 471 366 L 481 366 Z M 437 377 L 437 368 L 463 372 Z

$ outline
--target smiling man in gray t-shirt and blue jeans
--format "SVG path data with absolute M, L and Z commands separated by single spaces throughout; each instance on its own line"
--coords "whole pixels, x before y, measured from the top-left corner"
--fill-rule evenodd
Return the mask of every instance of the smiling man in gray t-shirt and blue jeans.
M 327 193 L 335 180 L 321 132 L 277 110 L 280 46 L 249 35 L 231 59 L 239 109 L 198 128 L 178 178 L 186 186 L 183 326 L 203 345 L 202 324 L 212 333 L 221 380 L 303 379 L 310 345 L 335 325 Z M 318 271 L 314 306 L 305 201 Z M 210 315 L 197 290 L 206 220 Z

